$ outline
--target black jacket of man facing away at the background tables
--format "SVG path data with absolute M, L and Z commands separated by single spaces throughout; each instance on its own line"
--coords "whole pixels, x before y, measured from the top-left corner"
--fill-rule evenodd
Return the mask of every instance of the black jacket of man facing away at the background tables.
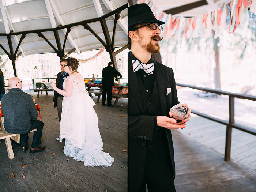
M 102 84 L 110 84 L 112 86 L 115 85 L 114 82 L 114 74 L 122 77 L 120 72 L 118 72 L 114 67 L 111 67 L 108 65 L 108 67 L 105 67 L 102 69 Z

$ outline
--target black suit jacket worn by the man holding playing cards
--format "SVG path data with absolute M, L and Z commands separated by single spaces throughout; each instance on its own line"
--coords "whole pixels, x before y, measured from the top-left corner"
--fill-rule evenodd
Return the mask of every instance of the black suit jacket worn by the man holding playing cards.
M 169 116 L 170 108 L 179 103 L 177 97 L 176 83 L 173 70 L 165 65 L 154 61 L 154 75 L 157 80 L 160 105 L 162 115 Z M 131 57 L 128 56 L 128 182 L 129 191 L 137 191 L 142 182 L 144 173 L 144 165 L 146 159 L 146 147 L 143 143 L 146 140 L 152 140 L 153 130 L 157 126 L 156 117 L 145 114 L 145 106 L 142 102 L 142 93 L 138 85 L 136 73 L 132 71 Z M 166 96 L 167 88 L 172 91 Z M 169 145 L 170 159 L 173 166 L 173 175 L 175 177 L 174 150 L 172 142 L 172 134 L 170 129 L 164 129 Z M 143 135 L 142 139 L 135 136 Z

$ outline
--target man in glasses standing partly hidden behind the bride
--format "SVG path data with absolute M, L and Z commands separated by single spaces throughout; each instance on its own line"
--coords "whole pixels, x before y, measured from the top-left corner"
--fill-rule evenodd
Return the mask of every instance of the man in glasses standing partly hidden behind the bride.
M 63 90 L 62 84 L 64 82 L 64 78 L 66 78 L 67 76 L 69 76 L 69 74 L 67 72 L 65 72 L 65 65 L 66 65 L 66 59 L 61 59 L 60 60 L 60 69 L 61 72 L 59 72 L 57 74 L 57 78 L 56 78 L 56 87 L 58 87 L 59 89 Z M 57 107 L 57 111 L 58 111 L 58 118 L 59 121 L 61 119 L 61 112 L 62 112 L 62 100 L 63 100 L 63 95 L 57 93 L 57 91 L 54 91 L 54 95 L 53 95 L 53 107 L 56 108 Z M 56 140 L 60 140 L 60 137 L 56 137 Z

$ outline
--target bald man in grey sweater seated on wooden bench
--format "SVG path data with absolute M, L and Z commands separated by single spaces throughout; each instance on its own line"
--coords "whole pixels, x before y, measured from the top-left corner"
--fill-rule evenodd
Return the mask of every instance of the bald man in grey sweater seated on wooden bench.
M 35 103 L 29 94 L 21 90 L 21 83 L 22 81 L 17 77 L 12 77 L 8 80 L 10 91 L 3 96 L 1 101 L 4 128 L 8 133 L 20 134 L 22 151 L 26 151 L 29 148 L 27 145 L 27 133 L 37 128 L 30 148 L 30 153 L 36 153 L 45 150 L 45 147 L 39 146 L 44 123 L 36 120 L 37 109 L 35 108 Z

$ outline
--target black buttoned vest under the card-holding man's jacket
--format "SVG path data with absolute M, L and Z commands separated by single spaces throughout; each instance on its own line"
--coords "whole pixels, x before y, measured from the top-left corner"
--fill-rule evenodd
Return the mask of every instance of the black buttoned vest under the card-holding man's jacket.
M 139 75 L 137 74 L 138 83 L 140 86 L 140 91 L 142 93 L 142 102 L 145 110 L 144 115 L 150 116 L 159 116 L 162 115 L 161 104 L 160 104 L 160 97 L 159 97 L 159 90 L 157 85 L 157 80 L 154 81 L 154 88 L 151 95 L 148 95 L 145 86 L 140 79 Z M 153 132 L 153 138 L 151 141 L 147 141 L 147 150 L 146 156 L 147 157 L 154 157 L 155 155 L 167 157 L 169 156 L 168 151 L 168 144 L 167 138 L 165 133 L 165 128 L 155 126 Z

